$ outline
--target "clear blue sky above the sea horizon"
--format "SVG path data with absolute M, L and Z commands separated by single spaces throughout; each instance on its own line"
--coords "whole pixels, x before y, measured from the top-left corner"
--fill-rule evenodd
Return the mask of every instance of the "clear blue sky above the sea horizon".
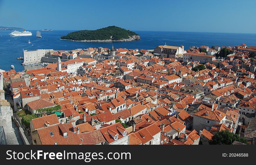
M 255 0 L 0 0 L 0 26 L 256 33 L 255 6 Z

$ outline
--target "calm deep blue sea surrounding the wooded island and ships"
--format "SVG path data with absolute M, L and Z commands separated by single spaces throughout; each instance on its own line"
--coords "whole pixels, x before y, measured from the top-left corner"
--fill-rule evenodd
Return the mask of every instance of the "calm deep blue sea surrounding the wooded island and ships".
M 209 33 L 209 32 L 157 32 L 157 31 L 135 31 L 141 36 L 141 40 L 130 42 L 104 42 L 86 43 L 59 40 L 62 35 L 72 32 L 70 30 L 41 31 L 42 38 L 36 38 L 36 30 L 28 30 L 33 33 L 27 37 L 10 37 L 9 30 L 0 30 L 0 69 L 10 70 L 10 65 L 15 66 L 16 71 L 26 68 L 33 69 L 42 67 L 22 66 L 23 60 L 16 59 L 22 56 L 22 50 L 54 49 L 73 50 L 77 48 L 115 48 L 127 49 L 154 49 L 158 45 L 184 45 L 185 49 L 190 46 L 238 46 L 246 43 L 248 46 L 256 46 L 256 34 L 246 33 Z M 29 44 L 28 41 L 31 41 Z M 9 41 L 10 40 L 10 41 Z M 32 46 L 33 45 L 33 46 Z

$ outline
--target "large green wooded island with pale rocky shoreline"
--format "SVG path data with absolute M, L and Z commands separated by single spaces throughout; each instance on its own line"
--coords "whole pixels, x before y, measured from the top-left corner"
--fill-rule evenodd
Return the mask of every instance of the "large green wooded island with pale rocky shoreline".
M 140 40 L 140 36 L 130 30 L 117 26 L 108 26 L 97 30 L 79 30 L 61 36 L 61 40 L 80 42 L 113 42 Z

